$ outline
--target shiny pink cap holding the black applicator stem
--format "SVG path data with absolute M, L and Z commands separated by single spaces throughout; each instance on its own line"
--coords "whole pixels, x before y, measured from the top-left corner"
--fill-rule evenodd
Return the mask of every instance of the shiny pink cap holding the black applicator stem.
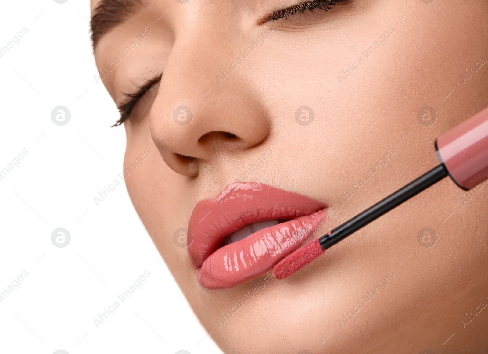
M 488 108 L 435 141 L 449 176 L 468 190 L 488 178 Z

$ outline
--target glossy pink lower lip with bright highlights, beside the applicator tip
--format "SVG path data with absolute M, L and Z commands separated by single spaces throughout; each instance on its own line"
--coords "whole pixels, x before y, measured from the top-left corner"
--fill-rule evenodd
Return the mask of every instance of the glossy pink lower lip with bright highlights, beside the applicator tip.
M 221 247 L 205 259 L 197 279 L 205 288 L 225 289 L 260 275 L 298 249 L 326 216 L 319 210 Z

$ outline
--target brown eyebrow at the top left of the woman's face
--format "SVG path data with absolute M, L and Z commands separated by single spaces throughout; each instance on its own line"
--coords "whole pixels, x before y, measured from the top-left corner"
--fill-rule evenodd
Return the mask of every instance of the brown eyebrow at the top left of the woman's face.
M 93 10 L 90 20 L 91 39 L 93 46 L 103 34 L 127 20 L 139 7 L 145 5 L 144 0 L 102 0 Z

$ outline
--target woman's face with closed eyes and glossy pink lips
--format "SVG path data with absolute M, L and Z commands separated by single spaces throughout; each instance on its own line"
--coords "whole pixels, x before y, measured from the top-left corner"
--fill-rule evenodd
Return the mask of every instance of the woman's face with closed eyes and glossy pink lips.
M 465 313 L 488 304 L 482 185 L 444 179 L 289 278 L 270 271 L 437 165 L 435 138 L 487 106 L 487 2 L 340 1 L 267 21 L 294 4 L 92 0 L 135 209 L 224 352 L 468 348 Z

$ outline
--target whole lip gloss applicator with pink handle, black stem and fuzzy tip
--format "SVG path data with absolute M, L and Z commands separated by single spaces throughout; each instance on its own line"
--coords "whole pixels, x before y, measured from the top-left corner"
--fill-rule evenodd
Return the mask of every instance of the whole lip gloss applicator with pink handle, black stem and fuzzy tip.
M 438 166 L 287 256 L 275 266 L 274 277 L 285 279 L 294 274 L 318 256 L 323 255 L 327 248 L 385 215 L 444 177 L 450 176 L 464 190 L 487 179 L 488 108 L 437 138 L 434 145 L 440 161 Z

